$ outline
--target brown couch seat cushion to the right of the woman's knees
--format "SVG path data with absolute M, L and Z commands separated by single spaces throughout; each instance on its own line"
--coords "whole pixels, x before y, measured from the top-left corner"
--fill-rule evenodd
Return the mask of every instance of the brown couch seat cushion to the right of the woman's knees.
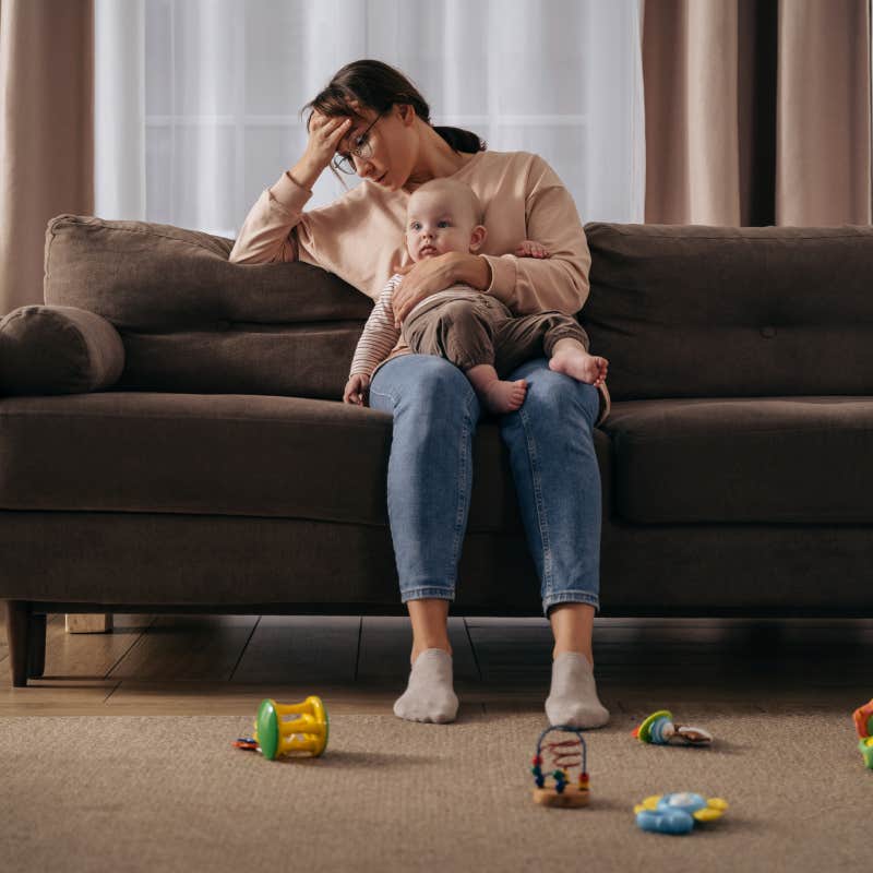
M 624 400 L 614 505 L 643 524 L 873 523 L 873 398 Z

